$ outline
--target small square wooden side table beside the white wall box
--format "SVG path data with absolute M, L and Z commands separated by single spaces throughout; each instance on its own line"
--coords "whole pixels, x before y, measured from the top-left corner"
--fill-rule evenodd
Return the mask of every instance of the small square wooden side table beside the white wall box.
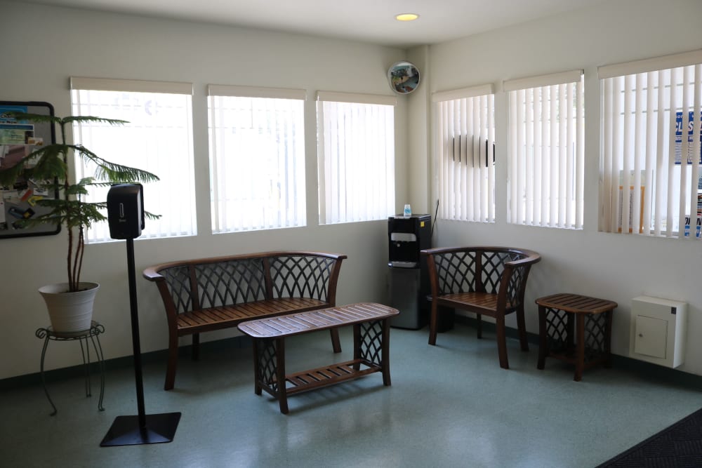
M 597 364 L 611 366 L 612 314 L 617 303 L 578 294 L 554 294 L 539 297 L 538 364 L 552 357 L 574 363 L 574 380 L 579 382 L 583 370 Z M 575 333 L 574 333 L 575 325 Z

